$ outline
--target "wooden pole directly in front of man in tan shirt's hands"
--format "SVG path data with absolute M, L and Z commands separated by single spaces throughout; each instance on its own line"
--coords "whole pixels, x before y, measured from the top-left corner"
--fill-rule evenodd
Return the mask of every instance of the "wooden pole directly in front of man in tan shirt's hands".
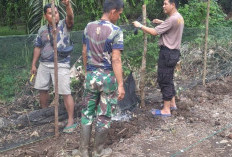
M 147 10 L 146 5 L 143 5 L 143 25 L 147 25 Z M 141 104 L 140 108 L 145 106 L 145 75 L 146 75 L 146 55 L 147 55 L 147 33 L 143 33 L 143 39 L 144 39 L 144 49 L 143 49 L 143 59 L 142 59 L 142 66 L 141 66 L 141 83 L 140 83 L 140 95 L 141 95 Z

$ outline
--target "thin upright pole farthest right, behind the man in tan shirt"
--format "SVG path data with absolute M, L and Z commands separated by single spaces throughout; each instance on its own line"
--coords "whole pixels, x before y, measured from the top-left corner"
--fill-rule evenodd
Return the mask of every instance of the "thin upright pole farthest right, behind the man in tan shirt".
M 207 74 L 207 50 L 208 50 L 208 34 L 209 34 L 209 12 L 210 12 L 210 0 L 208 0 L 206 26 L 205 26 L 205 50 L 204 50 L 204 71 L 203 71 L 203 85 L 205 86 L 206 74 Z

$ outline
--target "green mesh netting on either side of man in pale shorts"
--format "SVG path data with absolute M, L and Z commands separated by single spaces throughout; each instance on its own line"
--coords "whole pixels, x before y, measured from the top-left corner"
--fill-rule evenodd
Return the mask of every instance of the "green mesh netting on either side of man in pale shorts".
M 0 37 L 0 99 L 13 98 L 27 93 L 25 85 L 30 78 L 33 58 L 33 40 L 36 35 Z M 81 55 L 82 31 L 72 32 L 74 51 L 71 63 Z M 26 89 L 22 88 L 25 87 Z

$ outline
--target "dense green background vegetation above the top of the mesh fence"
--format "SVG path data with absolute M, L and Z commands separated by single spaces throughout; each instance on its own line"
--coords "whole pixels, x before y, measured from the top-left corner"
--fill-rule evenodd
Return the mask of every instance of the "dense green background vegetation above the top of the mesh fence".
M 102 4 L 104 0 L 72 0 L 75 13 L 75 30 L 83 30 L 89 21 L 99 19 L 102 14 Z M 43 6 L 50 2 L 49 0 L 0 0 L 0 27 L 7 28 L 20 33 L 36 33 L 43 20 Z M 141 7 L 146 2 L 147 15 L 150 20 L 154 18 L 165 19 L 163 13 L 162 0 L 124 0 L 124 13 L 118 24 L 130 23 L 141 17 Z M 229 26 L 231 22 L 225 22 L 225 13 L 232 10 L 231 0 L 211 1 L 211 18 L 210 25 Z M 59 0 L 55 0 L 59 7 L 61 17 L 65 16 L 64 7 Z M 204 25 L 206 15 L 206 2 L 204 0 L 180 0 L 180 12 L 185 18 L 187 27 L 198 27 Z M 221 8 L 221 6 L 223 8 Z M 225 13 L 223 13 L 223 11 Z M 140 18 L 141 19 L 141 18 Z M 81 22 L 79 22 L 81 21 Z M 10 31 L 0 31 L 0 35 L 10 35 Z

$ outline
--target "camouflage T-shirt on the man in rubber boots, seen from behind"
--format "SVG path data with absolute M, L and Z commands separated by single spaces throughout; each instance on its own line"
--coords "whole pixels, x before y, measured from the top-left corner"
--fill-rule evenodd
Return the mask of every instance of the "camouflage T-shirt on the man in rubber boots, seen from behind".
M 88 23 L 83 34 L 87 46 L 87 70 L 112 70 L 112 50 L 123 50 L 123 32 L 109 21 Z

